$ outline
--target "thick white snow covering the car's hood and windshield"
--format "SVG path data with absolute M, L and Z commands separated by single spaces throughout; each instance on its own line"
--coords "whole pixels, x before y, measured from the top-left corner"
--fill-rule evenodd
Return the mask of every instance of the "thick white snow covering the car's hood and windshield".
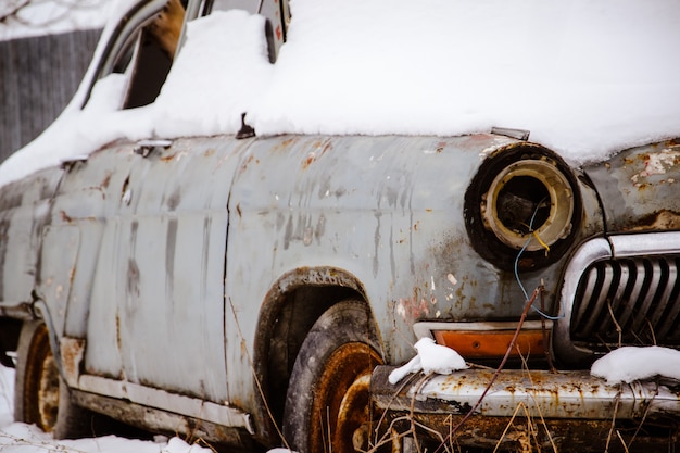
M 572 164 L 680 136 L 677 0 L 292 0 L 291 11 L 274 65 L 262 17 L 194 21 L 154 104 L 116 111 L 123 90 L 102 80 L 88 108 L 5 161 L 0 184 L 115 139 L 234 134 L 242 112 L 259 135 L 522 128 Z

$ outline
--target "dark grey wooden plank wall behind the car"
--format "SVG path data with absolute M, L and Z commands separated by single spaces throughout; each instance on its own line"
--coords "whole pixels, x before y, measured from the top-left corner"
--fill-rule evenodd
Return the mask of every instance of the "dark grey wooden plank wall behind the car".
M 100 35 L 95 29 L 0 41 L 0 162 L 66 106 Z

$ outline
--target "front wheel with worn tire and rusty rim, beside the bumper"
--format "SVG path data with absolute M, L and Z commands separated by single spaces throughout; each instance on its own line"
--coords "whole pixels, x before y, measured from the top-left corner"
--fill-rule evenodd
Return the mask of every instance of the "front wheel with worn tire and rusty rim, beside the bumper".
M 382 363 L 378 351 L 375 327 L 360 301 L 332 305 L 316 320 L 300 348 L 286 395 L 288 446 L 299 453 L 366 450 L 370 372 Z

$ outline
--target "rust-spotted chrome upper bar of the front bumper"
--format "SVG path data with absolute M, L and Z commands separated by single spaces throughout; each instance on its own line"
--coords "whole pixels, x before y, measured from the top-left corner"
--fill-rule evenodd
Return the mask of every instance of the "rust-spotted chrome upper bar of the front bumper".
M 467 414 L 482 395 L 493 369 L 465 369 L 452 375 L 419 375 L 407 386 L 391 385 L 393 366 L 374 370 L 370 392 L 380 410 L 429 414 Z M 680 385 L 655 381 L 607 386 L 587 370 L 551 373 L 503 370 L 491 385 L 478 415 L 509 417 L 518 406 L 542 418 L 640 419 L 643 416 L 679 416 Z M 476 414 L 476 415 L 477 415 Z

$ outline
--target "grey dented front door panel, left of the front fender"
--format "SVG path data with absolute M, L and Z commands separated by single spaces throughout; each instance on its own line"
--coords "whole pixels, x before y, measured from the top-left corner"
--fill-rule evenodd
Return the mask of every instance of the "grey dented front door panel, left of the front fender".
M 134 165 L 122 169 L 97 256 L 88 373 L 228 401 L 227 200 L 247 148 L 216 139 L 176 140 L 147 155 L 129 148 Z M 111 351 L 117 362 L 102 358 Z

